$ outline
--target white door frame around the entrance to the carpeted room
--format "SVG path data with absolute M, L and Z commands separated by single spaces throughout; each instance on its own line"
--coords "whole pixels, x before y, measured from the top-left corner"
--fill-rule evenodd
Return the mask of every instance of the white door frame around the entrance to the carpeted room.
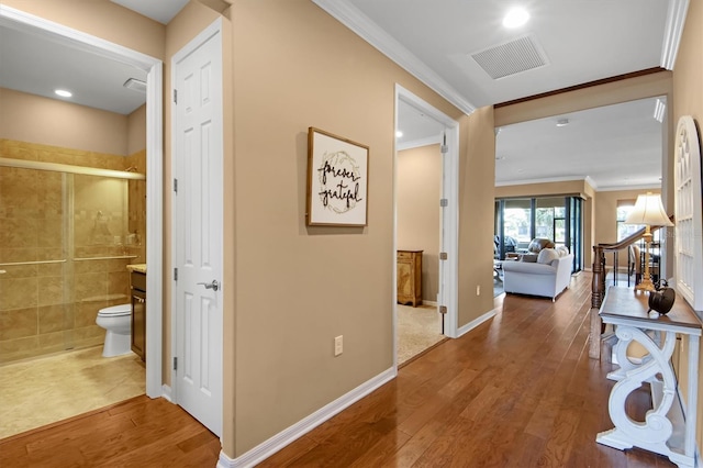
M 450 338 L 458 336 L 458 271 L 459 271 L 459 123 L 446 115 L 444 112 L 432 107 L 422 98 L 412 93 L 401 85 L 395 83 L 395 111 L 393 134 L 398 129 L 398 108 L 399 101 L 404 101 L 414 108 L 421 110 L 433 120 L 442 123 L 445 127 L 446 144 L 448 152 L 443 157 L 443 187 L 442 197 L 447 199 L 447 207 L 444 208 L 443 216 L 440 216 L 440 227 L 444 230 L 444 243 L 440 237 L 440 248 L 448 254 L 446 260 L 439 261 L 439 268 L 444 268 L 440 274 L 439 293 L 437 305 L 446 305 L 447 314 L 444 317 L 444 334 Z M 398 249 L 398 143 L 393 143 L 393 265 L 395 265 L 395 250 Z M 439 204 L 439 200 L 437 200 Z M 397 285 L 397 268 L 393 268 L 393 285 Z M 398 300 L 398 291 L 393 288 L 393 310 Z M 398 324 L 395 313 L 393 313 L 393 367 L 398 368 Z

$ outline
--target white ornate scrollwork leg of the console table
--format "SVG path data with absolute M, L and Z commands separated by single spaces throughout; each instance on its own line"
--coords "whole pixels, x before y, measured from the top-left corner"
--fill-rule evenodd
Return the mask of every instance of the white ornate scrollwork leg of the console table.
M 667 413 L 677 397 L 676 376 L 669 364 L 676 344 L 676 333 L 666 332 L 661 347 L 636 327 L 618 325 L 616 335 L 618 343 L 615 353 L 621 369 L 609 375 L 609 378 L 618 382 L 611 391 L 607 405 L 615 428 L 600 433 L 595 441 L 621 450 L 637 446 L 668 456 L 679 466 L 692 467 L 694 457 L 673 452 L 667 445 L 673 433 Z M 641 364 L 634 364 L 626 357 L 625 352 L 633 341 L 641 344 L 649 353 Z M 644 422 L 633 421 L 625 412 L 625 401 L 629 393 L 639 389 L 644 382 L 650 382 L 651 386 L 661 385 L 661 397 L 652 397 L 655 408 L 647 412 Z

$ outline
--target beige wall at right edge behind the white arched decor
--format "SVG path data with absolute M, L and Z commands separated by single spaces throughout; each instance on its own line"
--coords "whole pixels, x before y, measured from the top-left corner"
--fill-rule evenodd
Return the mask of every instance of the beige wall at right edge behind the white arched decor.
M 676 125 L 682 115 L 691 115 L 699 129 L 703 120 L 703 55 L 701 55 L 701 45 L 703 44 L 703 3 L 693 1 L 689 4 L 683 37 L 677 57 L 673 73 L 673 124 Z M 700 130 L 699 130 L 700 133 Z M 700 138 L 700 135 L 699 135 Z M 673 138 L 671 142 L 673 147 Z M 668 168 L 670 174 L 673 171 L 673 163 Z M 672 186 L 673 183 L 671 183 Z M 672 212 L 672 211 L 669 211 Z M 701 291 L 696 291 L 700 293 Z M 682 343 L 681 363 L 679 368 L 688 367 L 688 341 Z M 699 352 L 703 356 L 703 349 Z M 699 417 L 698 417 L 698 446 L 699 450 L 703 448 L 703 412 L 700 411 L 703 402 L 703 372 L 699 365 Z M 680 374 L 680 386 L 685 389 L 688 376 L 685 372 Z

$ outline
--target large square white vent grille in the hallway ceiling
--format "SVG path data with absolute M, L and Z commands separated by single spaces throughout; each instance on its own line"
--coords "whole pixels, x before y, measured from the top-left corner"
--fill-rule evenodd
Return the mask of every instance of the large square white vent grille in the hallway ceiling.
M 493 79 L 544 67 L 547 57 L 536 38 L 524 36 L 481 52 L 471 58 Z

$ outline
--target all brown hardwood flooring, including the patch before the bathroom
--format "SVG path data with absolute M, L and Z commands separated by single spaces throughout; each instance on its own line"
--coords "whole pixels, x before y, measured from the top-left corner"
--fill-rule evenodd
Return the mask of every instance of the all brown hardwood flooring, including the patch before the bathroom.
M 670 467 L 595 443 L 611 427 L 611 364 L 588 357 L 591 276 L 556 302 L 507 296 L 502 311 L 432 348 L 393 381 L 260 467 Z M 649 399 L 628 399 L 641 420 Z M 0 441 L 0 466 L 214 467 L 220 443 L 146 397 Z

